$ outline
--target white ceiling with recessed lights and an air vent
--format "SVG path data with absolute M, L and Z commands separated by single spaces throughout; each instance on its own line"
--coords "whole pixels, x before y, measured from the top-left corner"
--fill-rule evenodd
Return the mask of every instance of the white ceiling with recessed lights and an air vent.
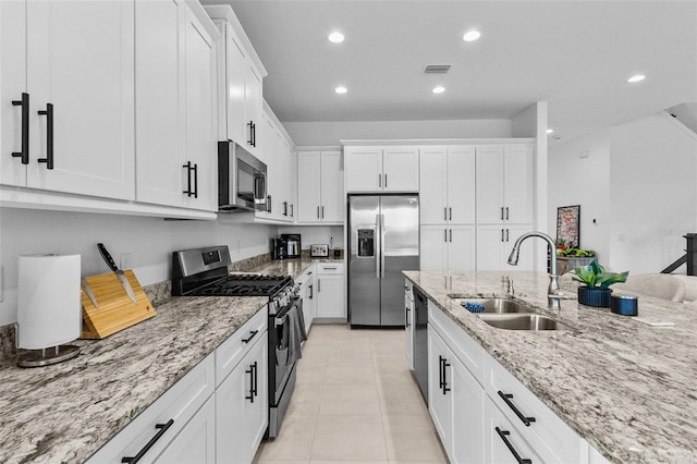
M 227 2 L 281 122 L 510 119 L 548 101 L 567 141 L 697 101 L 697 1 Z M 469 28 L 482 37 L 463 41 Z M 442 63 L 449 74 L 423 73 Z

